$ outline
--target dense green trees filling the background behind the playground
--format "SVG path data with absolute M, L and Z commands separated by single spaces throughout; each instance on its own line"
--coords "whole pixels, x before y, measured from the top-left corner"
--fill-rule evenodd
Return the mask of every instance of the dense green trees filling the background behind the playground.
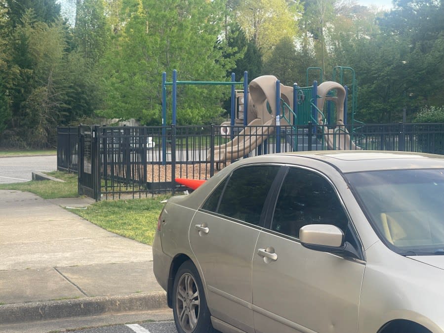
M 74 27 L 56 0 L 0 0 L 2 146 L 53 146 L 57 125 L 96 116 L 160 125 L 161 73 L 171 81 L 173 69 L 181 81 L 229 81 L 232 71 L 242 81 L 246 70 L 305 85 L 307 67 L 322 67 L 324 80 L 352 67 L 355 118 L 366 123 L 402 121 L 404 110 L 409 122 L 443 104 L 442 1 L 396 0 L 386 13 L 338 0 L 62 3 Z M 230 95 L 227 86 L 177 92 L 179 125 L 219 122 Z

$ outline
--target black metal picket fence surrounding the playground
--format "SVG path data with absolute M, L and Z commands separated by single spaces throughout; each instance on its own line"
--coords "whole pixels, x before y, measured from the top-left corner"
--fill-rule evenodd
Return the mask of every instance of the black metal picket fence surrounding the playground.
M 207 179 L 235 160 L 276 152 L 363 149 L 444 155 L 444 124 L 80 126 L 57 132 L 57 168 L 79 172 L 79 193 L 96 200 L 183 189 L 175 178 Z

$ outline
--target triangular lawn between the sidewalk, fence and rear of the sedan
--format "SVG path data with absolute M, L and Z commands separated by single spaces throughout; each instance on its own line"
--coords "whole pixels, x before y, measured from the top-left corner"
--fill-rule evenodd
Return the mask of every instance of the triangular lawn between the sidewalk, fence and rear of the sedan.
M 86 209 L 68 209 L 88 221 L 126 238 L 153 244 L 157 219 L 167 195 L 146 199 L 100 201 Z

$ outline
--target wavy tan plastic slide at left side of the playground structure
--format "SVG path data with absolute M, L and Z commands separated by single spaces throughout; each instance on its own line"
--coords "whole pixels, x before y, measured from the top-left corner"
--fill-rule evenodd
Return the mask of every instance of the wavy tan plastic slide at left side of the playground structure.
M 272 125 L 274 125 L 274 119 L 270 119 L 264 125 L 260 118 L 254 119 L 233 140 L 214 147 L 214 162 L 226 163 L 247 155 L 274 131 Z M 210 160 L 210 152 L 210 150 L 207 151 L 207 161 Z

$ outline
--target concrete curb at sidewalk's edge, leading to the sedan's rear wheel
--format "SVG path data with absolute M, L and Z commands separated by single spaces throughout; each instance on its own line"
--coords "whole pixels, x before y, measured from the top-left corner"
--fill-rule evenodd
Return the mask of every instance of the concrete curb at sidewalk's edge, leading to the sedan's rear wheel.
M 144 292 L 121 296 L 6 304 L 0 306 L 0 323 L 93 316 L 107 313 L 146 311 L 166 308 L 166 292 Z

